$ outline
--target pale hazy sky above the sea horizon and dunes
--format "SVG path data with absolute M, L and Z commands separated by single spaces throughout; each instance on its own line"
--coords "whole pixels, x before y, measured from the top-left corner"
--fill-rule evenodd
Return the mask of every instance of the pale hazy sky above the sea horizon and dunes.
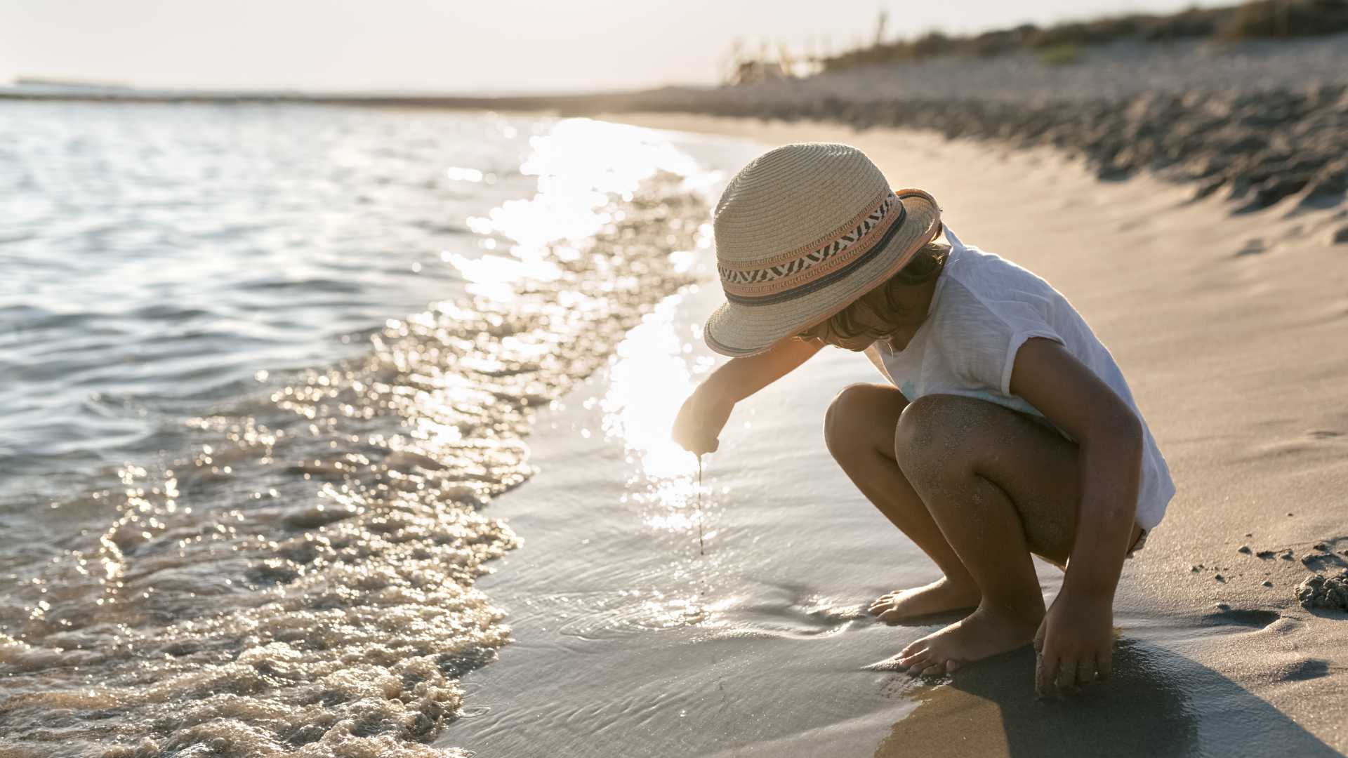
M 555 92 L 710 84 L 736 38 L 803 51 L 1192 0 L 0 0 L 0 85 Z M 1202 5 L 1229 4 L 1206 1 Z M 755 42 L 756 43 L 756 42 Z

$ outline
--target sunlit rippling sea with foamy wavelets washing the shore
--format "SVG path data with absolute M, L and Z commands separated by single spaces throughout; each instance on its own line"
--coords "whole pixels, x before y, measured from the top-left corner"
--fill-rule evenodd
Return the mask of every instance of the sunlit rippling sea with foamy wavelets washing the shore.
M 454 753 L 510 641 L 484 506 L 708 256 L 743 148 L 681 139 L 4 105 L 3 753 Z

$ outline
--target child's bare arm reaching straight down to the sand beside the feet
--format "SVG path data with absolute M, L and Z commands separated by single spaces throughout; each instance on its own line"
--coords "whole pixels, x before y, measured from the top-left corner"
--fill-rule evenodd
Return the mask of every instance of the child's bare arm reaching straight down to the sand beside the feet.
M 1033 337 L 1016 352 L 1011 391 L 1077 441 L 1081 499 L 1062 591 L 1039 624 L 1035 687 L 1046 692 L 1109 676 L 1113 591 L 1128 552 L 1142 477 L 1142 422 L 1061 344 Z

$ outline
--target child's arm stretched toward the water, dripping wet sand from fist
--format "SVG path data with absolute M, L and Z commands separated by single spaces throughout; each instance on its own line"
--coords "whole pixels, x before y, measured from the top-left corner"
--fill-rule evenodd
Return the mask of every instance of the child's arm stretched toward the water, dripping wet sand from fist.
M 767 352 L 731 359 L 683 401 L 674 419 L 674 441 L 697 455 L 714 452 L 735 403 L 786 376 L 822 347 L 822 340 L 786 340 Z

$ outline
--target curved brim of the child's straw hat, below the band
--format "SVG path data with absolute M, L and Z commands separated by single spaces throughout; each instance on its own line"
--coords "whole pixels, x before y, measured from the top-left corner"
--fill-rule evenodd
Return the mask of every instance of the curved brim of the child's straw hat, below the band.
M 702 339 L 706 347 L 732 357 L 766 352 L 852 305 L 872 287 L 898 274 L 922 245 L 941 231 L 941 209 L 922 190 L 898 190 L 903 204 L 903 224 L 848 276 L 809 294 L 770 305 L 725 302 L 706 320 Z

